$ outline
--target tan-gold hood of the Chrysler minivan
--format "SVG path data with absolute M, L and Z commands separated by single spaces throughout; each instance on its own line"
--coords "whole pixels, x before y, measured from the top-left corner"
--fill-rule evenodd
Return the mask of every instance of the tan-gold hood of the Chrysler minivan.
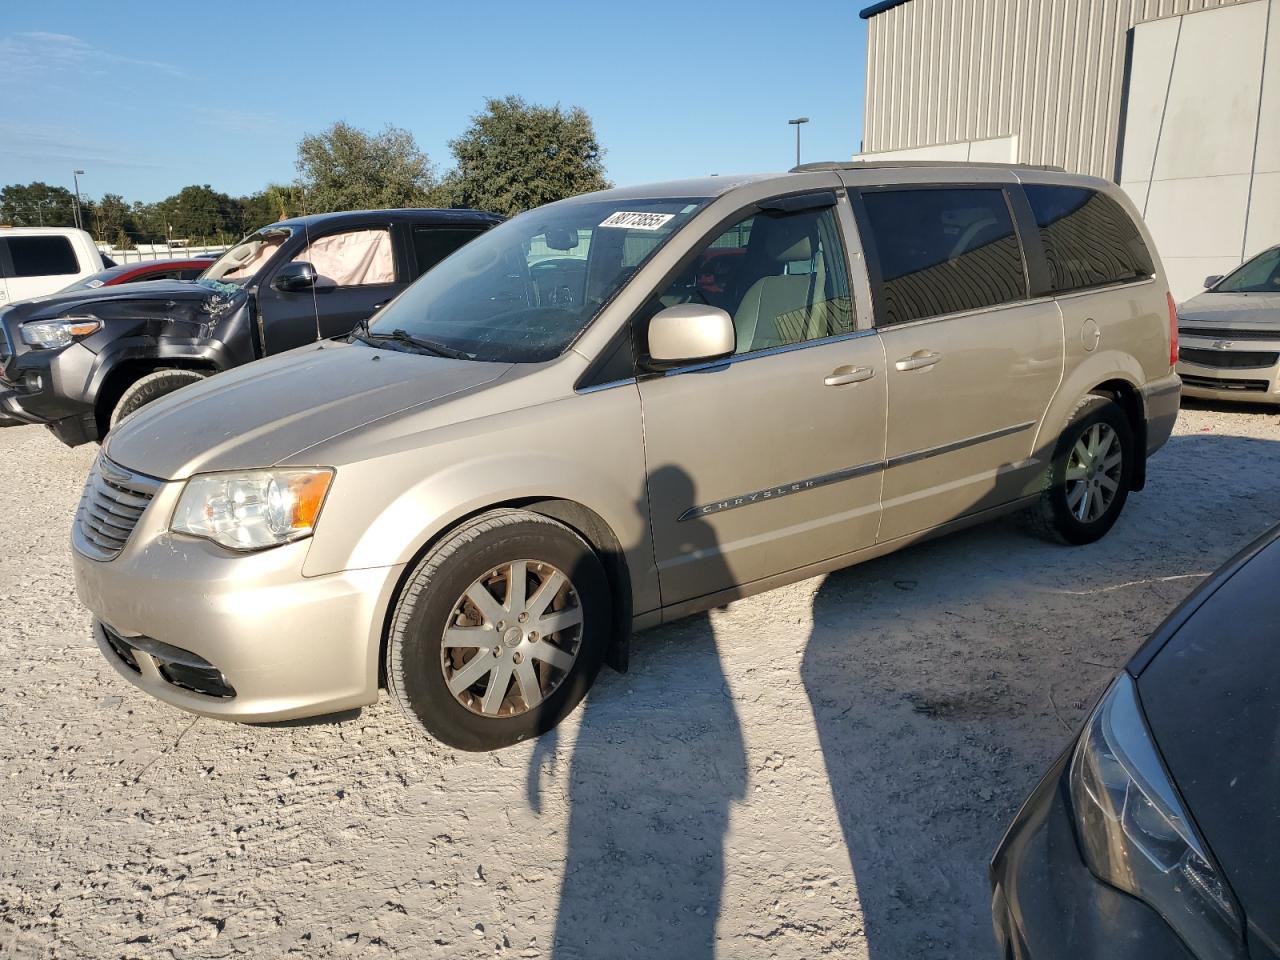
M 511 364 L 321 343 L 247 364 L 147 404 L 104 453 L 161 480 L 268 467 L 332 436 L 492 383 Z

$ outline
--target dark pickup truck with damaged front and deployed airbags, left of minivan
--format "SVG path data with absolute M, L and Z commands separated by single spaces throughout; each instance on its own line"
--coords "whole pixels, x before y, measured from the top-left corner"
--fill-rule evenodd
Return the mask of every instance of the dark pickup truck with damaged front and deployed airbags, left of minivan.
M 344 334 L 502 218 L 366 210 L 264 227 L 196 283 L 73 289 L 0 310 L 0 426 L 100 439 L 146 403 Z

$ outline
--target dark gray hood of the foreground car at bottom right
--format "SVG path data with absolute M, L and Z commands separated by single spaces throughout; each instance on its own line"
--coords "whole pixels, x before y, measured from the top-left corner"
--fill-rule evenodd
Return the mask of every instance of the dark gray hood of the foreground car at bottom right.
M 1138 677 L 1160 751 L 1244 913 L 1280 942 L 1280 541 Z

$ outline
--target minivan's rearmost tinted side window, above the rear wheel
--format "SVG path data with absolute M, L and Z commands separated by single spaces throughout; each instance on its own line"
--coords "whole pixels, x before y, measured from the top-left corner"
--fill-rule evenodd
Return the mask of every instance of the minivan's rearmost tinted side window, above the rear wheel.
M 1082 187 L 1027 186 L 1055 291 L 1156 273 L 1142 234 L 1116 201 Z

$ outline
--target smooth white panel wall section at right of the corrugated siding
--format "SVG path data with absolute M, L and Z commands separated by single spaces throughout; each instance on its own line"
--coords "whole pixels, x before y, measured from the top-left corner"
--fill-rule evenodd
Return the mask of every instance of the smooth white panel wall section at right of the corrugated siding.
M 1175 300 L 1280 243 L 1280 1 L 1134 28 L 1120 183 Z

